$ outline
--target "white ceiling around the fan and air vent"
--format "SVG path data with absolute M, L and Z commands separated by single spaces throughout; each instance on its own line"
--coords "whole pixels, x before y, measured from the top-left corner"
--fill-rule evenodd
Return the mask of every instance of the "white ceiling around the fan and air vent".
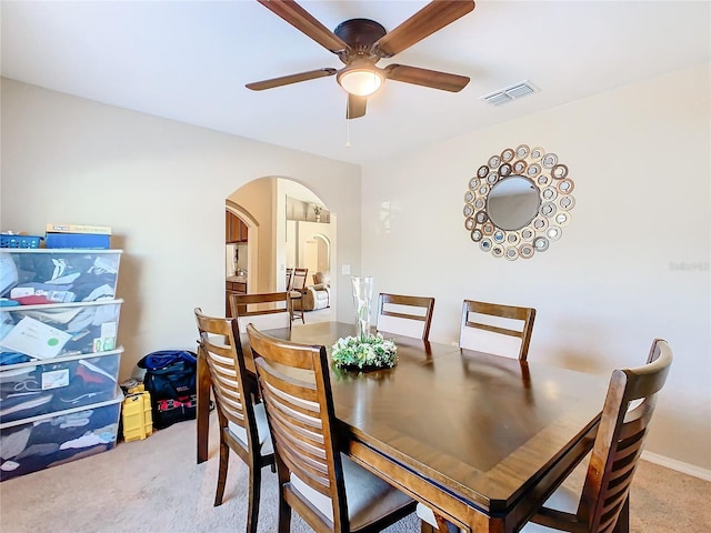
M 387 30 L 425 1 L 300 1 L 326 27 Z M 471 77 L 459 93 L 389 81 L 346 120 L 334 77 L 251 81 L 339 59 L 263 6 L 240 1 L 2 1 L 2 76 L 342 161 L 367 162 L 710 60 L 709 1 L 493 1 L 392 62 Z M 530 80 L 500 107 L 480 97 Z M 351 147 L 347 148 L 350 129 Z

